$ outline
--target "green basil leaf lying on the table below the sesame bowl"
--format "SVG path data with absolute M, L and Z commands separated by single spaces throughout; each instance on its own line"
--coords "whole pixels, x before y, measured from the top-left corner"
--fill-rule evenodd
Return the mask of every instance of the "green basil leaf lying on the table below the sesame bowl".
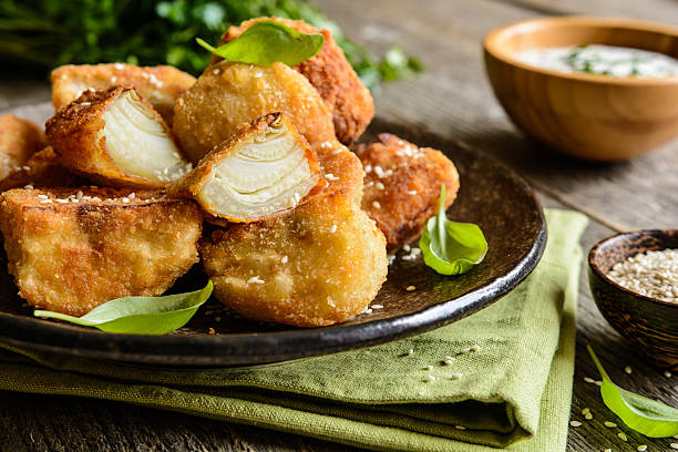
M 646 436 L 668 438 L 678 434 L 678 410 L 619 388 L 612 382 L 596 353 L 588 352 L 600 372 L 603 401 L 629 428 Z

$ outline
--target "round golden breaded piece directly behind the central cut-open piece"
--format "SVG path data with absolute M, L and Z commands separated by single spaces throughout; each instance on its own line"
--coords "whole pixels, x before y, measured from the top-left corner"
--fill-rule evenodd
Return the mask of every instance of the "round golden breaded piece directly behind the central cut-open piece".
M 274 112 L 289 114 L 309 143 L 335 137 L 331 112 L 316 89 L 282 63 L 209 65 L 176 102 L 172 130 L 186 156 L 197 163 L 240 124 Z

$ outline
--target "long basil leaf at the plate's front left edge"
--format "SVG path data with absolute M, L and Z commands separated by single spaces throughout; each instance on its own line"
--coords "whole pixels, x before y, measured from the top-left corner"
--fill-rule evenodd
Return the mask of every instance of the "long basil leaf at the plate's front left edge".
M 164 297 L 123 297 L 106 301 L 82 317 L 35 310 L 33 316 L 70 321 L 106 332 L 166 335 L 186 325 L 212 295 L 212 280 L 204 289 Z

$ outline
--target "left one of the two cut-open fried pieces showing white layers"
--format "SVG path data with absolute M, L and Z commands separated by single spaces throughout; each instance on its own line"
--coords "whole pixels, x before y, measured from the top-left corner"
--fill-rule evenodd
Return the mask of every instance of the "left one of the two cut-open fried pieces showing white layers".
M 47 122 L 47 133 L 64 166 L 102 185 L 162 188 L 191 171 L 133 88 L 83 93 Z

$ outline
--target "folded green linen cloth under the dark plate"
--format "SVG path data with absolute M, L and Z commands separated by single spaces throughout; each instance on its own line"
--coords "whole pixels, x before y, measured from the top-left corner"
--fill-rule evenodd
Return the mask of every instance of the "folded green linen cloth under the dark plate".
M 148 370 L 0 345 L 0 389 L 117 400 L 370 450 L 473 452 L 517 442 L 512 450 L 564 451 L 578 238 L 587 220 L 554 209 L 546 218 L 546 250 L 526 281 L 486 309 L 428 333 L 288 363 L 208 371 Z M 461 352 L 475 345 L 480 350 Z M 414 352 L 407 355 L 409 349 Z M 442 362 L 446 356 L 455 357 L 450 366 Z M 435 380 L 425 381 L 428 374 Z

